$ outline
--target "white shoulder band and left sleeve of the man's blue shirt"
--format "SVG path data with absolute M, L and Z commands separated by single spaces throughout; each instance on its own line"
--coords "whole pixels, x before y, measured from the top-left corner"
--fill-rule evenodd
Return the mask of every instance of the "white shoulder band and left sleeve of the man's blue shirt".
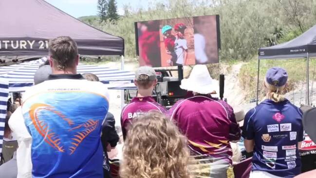
M 101 82 L 88 81 L 84 79 L 54 79 L 44 81 L 38 85 L 28 88 L 23 95 L 23 101 L 43 92 L 52 90 L 80 90 L 82 92 L 95 93 L 109 99 L 107 87 Z M 22 113 L 22 106 L 11 115 L 9 126 L 13 135 L 18 140 L 17 164 L 18 178 L 32 178 L 32 137 L 28 132 Z M 49 160 L 48 160 L 49 161 Z

